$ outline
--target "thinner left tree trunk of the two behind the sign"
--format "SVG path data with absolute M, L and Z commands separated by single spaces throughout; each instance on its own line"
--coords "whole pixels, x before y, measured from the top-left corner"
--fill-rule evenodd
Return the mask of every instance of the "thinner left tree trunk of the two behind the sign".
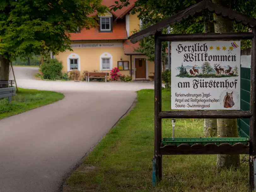
M 209 16 L 204 18 L 204 32 L 214 33 L 214 24 L 210 22 Z M 217 136 L 217 119 L 204 119 L 204 137 Z

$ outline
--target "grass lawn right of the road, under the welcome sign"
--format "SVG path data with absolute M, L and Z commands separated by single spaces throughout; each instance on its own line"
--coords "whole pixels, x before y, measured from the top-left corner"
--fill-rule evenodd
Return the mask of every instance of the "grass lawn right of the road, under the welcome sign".
M 171 108 L 163 90 L 163 110 Z M 163 180 L 152 187 L 154 90 L 138 91 L 133 110 L 108 132 L 82 165 L 67 178 L 73 192 L 247 192 L 248 163 L 237 170 L 216 169 L 216 155 L 163 156 Z M 163 119 L 162 137 L 172 137 L 171 119 Z M 175 137 L 202 137 L 203 119 L 177 119 Z M 241 159 L 248 156 L 241 155 Z

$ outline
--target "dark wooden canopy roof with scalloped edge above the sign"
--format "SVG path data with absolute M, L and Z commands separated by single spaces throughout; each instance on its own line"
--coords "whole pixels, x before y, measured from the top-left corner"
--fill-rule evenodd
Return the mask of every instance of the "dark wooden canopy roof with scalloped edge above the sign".
M 232 21 L 235 20 L 236 23 L 242 23 L 243 26 L 248 26 L 250 28 L 256 26 L 256 19 L 254 18 L 243 15 L 241 13 L 237 13 L 231 9 L 219 6 L 215 3 L 203 0 L 200 3 L 197 3 L 175 15 L 172 15 L 169 18 L 160 21 L 159 23 L 156 23 L 140 32 L 131 35 L 128 39 L 130 39 L 131 43 L 135 44 L 138 40 L 142 40 L 144 37 L 155 34 L 157 31 L 162 31 L 163 28 L 174 25 L 176 22 L 188 18 L 189 15 L 193 16 L 196 12 L 199 13 L 203 9 L 206 9 L 211 13 L 215 13 L 216 15 L 222 15 L 224 18 L 228 17 Z

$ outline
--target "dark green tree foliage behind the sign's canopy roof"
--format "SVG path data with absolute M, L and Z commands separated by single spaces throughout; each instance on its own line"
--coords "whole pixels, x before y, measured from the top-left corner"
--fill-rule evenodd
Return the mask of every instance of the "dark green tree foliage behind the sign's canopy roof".
M 129 0 L 123 1 L 129 3 Z M 137 12 L 139 13 L 139 19 L 142 19 L 144 23 L 151 22 L 155 24 L 199 2 L 201 0 L 138 0 L 135 2 L 135 8 L 132 10 L 132 14 Z M 231 1 L 230 9 L 255 18 L 256 0 Z M 189 16 L 187 19 L 172 25 L 170 33 L 202 33 L 204 32 L 204 20 L 206 18 L 209 22 L 214 22 L 213 14 L 203 10 L 200 13 L 196 13 L 193 17 Z M 249 28 L 234 22 L 233 31 L 247 32 Z M 250 40 L 241 41 L 241 49 L 245 47 L 250 47 Z

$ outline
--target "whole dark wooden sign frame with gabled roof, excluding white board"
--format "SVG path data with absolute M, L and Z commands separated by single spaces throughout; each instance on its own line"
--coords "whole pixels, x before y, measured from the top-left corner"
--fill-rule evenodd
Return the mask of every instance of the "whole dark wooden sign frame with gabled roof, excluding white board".
M 163 28 L 175 24 L 178 21 L 193 16 L 196 12 L 203 9 L 216 15 L 222 15 L 232 21 L 248 26 L 252 32 L 231 32 L 231 33 L 202 33 L 202 34 L 161 34 Z M 242 15 L 231 9 L 221 7 L 206 0 L 201 1 L 159 23 L 137 32 L 129 37 L 131 43 L 135 44 L 138 40 L 154 34 L 155 36 L 155 68 L 154 68 L 154 157 L 153 157 L 153 185 L 162 178 L 162 155 L 177 154 L 249 154 L 249 186 L 256 190 L 256 19 Z M 251 100 L 249 111 L 162 111 L 162 79 L 161 79 L 161 43 L 164 41 L 215 41 L 215 40 L 242 40 L 251 39 Z M 228 142 L 216 145 L 207 143 L 205 145 L 195 143 L 193 145 L 167 144 L 162 142 L 162 119 L 170 118 L 219 118 L 236 119 L 250 118 L 250 138 L 249 144 Z M 228 139 L 228 138 L 227 138 Z

